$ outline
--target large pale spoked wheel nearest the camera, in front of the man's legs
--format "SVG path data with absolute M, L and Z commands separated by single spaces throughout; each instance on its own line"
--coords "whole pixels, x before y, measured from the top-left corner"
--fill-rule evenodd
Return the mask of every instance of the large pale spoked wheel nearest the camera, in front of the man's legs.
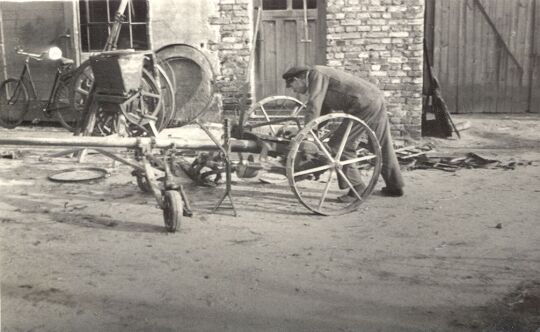
M 340 215 L 367 199 L 381 165 L 381 148 L 368 125 L 352 115 L 334 113 L 309 122 L 291 141 L 287 178 L 306 208 Z

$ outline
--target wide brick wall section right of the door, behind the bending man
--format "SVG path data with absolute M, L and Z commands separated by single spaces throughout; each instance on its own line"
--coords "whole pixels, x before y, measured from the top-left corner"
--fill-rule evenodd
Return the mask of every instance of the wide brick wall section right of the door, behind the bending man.
M 327 61 L 367 78 L 395 136 L 421 134 L 424 0 L 328 0 Z

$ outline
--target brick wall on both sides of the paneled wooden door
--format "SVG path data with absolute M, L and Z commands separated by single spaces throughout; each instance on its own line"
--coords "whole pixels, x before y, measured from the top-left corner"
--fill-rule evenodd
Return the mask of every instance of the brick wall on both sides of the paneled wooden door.
M 210 24 L 225 115 L 246 91 L 252 38 L 250 0 L 217 0 Z M 369 79 L 386 95 L 392 132 L 421 134 L 424 0 L 327 0 L 327 65 Z M 250 91 L 250 87 L 247 88 Z

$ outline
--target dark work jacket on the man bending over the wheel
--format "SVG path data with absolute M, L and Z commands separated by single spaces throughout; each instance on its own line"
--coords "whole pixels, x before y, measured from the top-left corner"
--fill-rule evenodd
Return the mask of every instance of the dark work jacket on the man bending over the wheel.
M 314 66 L 307 72 L 306 123 L 331 111 L 343 111 L 371 122 L 384 103 L 374 84 L 326 66 Z

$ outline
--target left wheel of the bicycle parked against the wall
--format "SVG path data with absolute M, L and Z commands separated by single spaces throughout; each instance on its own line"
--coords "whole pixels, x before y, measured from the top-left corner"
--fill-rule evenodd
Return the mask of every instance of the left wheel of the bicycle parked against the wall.
M 28 113 L 28 90 L 21 80 L 8 78 L 0 85 L 0 125 L 15 128 Z

